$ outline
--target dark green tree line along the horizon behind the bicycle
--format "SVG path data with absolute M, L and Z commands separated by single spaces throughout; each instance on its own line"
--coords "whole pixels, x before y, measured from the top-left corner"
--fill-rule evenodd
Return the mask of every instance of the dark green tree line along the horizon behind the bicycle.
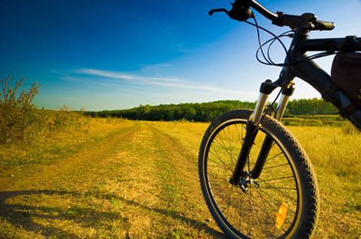
M 213 101 L 207 103 L 180 103 L 169 105 L 139 105 L 127 110 L 87 111 L 92 117 L 121 117 L 129 120 L 189 120 L 209 122 L 230 110 L 254 109 L 256 102 Z M 276 108 L 276 105 L 274 105 Z M 337 109 L 322 99 L 298 99 L 288 103 L 286 117 L 296 115 L 336 115 Z

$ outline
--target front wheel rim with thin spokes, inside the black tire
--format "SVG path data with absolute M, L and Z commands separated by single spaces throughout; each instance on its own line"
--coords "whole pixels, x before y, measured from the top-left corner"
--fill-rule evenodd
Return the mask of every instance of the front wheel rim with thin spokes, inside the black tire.
M 295 231 L 302 206 L 300 181 L 285 147 L 275 140 L 259 179 L 248 179 L 247 191 L 233 186 L 229 179 L 245 136 L 246 120 L 228 120 L 220 124 L 209 137 L 204 151 L 204 179 L 212 205 L 224 224 L 235 235 L 250 238 L 278 238 Z M 259 131 L 250 152 L 245 172 L 252 172 L 264 136 Z M 282 222 L 282 215 L 286 218 Z M 279 212 L 281 212 L 281 217 Z M 278 215 L 279 214 L 279 215 Z M 278 216 L 277 216 L 278 215 Z M 280 221 L 281 219 L 281 221 Z

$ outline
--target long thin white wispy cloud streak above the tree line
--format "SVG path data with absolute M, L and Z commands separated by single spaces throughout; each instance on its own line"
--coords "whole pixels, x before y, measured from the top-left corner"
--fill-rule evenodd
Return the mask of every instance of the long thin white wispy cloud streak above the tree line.
M 124 72 L 113 72 L 108 70 L 97 70 L 97 69 L 88 69 L 88 68 L 78 69 L 75 70 L 75 72 L 79 74 L 92 75 L 97 77 L 121 79 L 128 82 L 133 82 L 134 84 L 149 84 L 149 85 L 164 86 L 169 88 L 194 89 L 200 91 L 216 91 L 221 93 L 240 93 L 239 91 L 221 89 L 216 86 L 210 86 L 204 84 L 195 84 L 193 82 L 190 82 L 188 79 L 180 79 L 173 77 L 149 77 L 142 75 L 133 75 Z

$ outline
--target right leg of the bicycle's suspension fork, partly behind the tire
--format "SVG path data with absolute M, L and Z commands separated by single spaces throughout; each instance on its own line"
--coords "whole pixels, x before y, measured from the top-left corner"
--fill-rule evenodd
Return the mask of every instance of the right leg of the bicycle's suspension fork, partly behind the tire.
M 286 111 L 286 107 L 289 101 L 290 96 L 292 96 L 293 91 L 295 90 L 293 83 L 288 86 L 288 88 L 283 88 L 282 96 L 279 101 L 279 105 L 277 105 L 276 112 L 274 118 L 276 120 L 281 120 L 283 114 Z M 267 160 L 269 155 L 269 151 L 271 150 L 272 146 L 274 145 L 274 140 L 268 134 L 264 138 L 262 148 L 259 151 L 259 155 L 257 157 L 257 161 L 255 163 L 255 167 L 250 174 L 252 174 L 252 179 L 257 179 L 261 175 L 262 169 L 264 167 L 264 163 Z

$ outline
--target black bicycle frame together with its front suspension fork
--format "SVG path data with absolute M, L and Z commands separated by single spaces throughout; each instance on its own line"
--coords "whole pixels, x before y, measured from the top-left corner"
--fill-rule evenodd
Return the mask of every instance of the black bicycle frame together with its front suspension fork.
M 245 175 L 243 170 L 247 163 L 247 157 L 253 142 L 257 136 L 258 126 L 262 122 L 262 115 L 265 104 L 267 103 L 267 98 L 274 89 L 277 87 L 282 88 L 281 101 L 275 113 L 276 120 L 281 120 L 288 103 L 288 98 L 293 93 L 293 79 L 295 77 L 299 77 L 311 84 L 314 89 L 321 93 L 325 101 L 331 102 L 340 110 L 341 116 L 350 120 L 357 129 L 361 130 L 361 108 L 355 109 L 355 105 L 350 101 L 350 98 L 334 86 L 331 81 L 331 76 L 314 63 L 313 60 L 302 60 L 307 58 L 307 55 L 305 55 L 306 51 L 361 51 L 361 38 L 308 39 L 308 33 L 309 31 L 302 29 L 295 32 L 286 56 L 285 66 L 281 70 L 279 79 L 273 83 L 270 80 L 262 83 L 254 114 L 247 122 L 247 132 L 242 149 L 238 155 L 233 176 L 230 180 L 231 183 L 238 184 L 242 176 L 250 176 L 252 179 L 257 179 L 260 176 L 269 151 L 274 144 L 270 136 L 266 136 L 264 139 L 255 167 L 252 169 L 252 172 L 250 172 L 250 175 Z

